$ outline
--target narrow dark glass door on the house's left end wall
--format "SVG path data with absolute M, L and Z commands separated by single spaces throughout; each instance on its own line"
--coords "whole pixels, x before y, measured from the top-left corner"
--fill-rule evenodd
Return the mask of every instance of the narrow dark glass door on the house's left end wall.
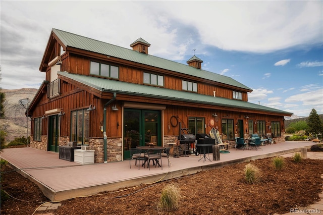
M 48 117 L 48 150 L 59 151 L 59 116 Z

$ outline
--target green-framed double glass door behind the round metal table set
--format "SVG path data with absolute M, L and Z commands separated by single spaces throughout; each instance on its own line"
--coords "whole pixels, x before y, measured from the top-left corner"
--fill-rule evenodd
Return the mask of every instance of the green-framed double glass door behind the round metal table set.
M 130 148 L 161 145 L 160 111 L 125 109 L 123 126 L 124 159 L 130 157 Z

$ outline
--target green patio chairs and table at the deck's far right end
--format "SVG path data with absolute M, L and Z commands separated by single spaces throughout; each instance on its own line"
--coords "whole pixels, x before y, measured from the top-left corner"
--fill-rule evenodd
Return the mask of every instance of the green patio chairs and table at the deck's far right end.
M 252 134 L 250 138 L 244 139 L 236 137 L 236 149 L 261 149 L 261 145 L 272 143 L 272 138 L 260 138 L 257 134 Z

